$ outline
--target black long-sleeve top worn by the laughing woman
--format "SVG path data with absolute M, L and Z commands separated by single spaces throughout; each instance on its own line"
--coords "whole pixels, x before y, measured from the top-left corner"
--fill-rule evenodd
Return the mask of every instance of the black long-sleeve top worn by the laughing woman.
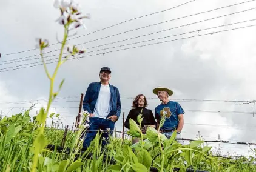
M 143 121 L 141 122 L 141 127 L 144 127 L 144 125 L 157 125 L 157 122 L 155 122 L 155 118 L 153 116 L 152 110 L 149 110 L 144 107 L 137 107 L 130 110 L 126 118 L 126 122 L 124 122 L 124 127 L 130 129 L 130 124 L 129 124 L 130 118 L 133 119 L 138 125 L 140 125 L 137 121 L 137 116 L 141 113 L 141 109 L 143 109 L 142 111 Z

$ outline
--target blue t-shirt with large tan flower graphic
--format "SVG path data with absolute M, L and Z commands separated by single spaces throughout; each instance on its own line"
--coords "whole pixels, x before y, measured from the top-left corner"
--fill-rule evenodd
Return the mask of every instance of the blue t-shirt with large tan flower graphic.
M 167 104 L 160 104 L 155 108 L 155 119 L 161 120 L 165 116 L 166 121 L 161 130 L 172 130 L 178 128 L 178 115 L 184 114 L 183 108 L 178 102 L 169 101 Z

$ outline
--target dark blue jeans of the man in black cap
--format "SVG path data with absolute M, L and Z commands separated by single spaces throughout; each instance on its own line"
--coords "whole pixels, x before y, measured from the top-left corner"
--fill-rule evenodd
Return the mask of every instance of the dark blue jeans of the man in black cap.
M 99 118 L 99 117 L 90 117 L 89 128 L 86 130 L 86 136 L 84 137 L 83 149 L 86 150 L 90 146 L 90 142 L 93 141 L 99 129 L 107 130 L 110 129 L 109 132 L 103 132 L 101 134 L 101 146 L 105 147 L 107 144 L 107 139 L 109 136 L 112 136 L 115 122 L 107 121 L 107 119 Z M 104 137 L 104 139 L 103 139 Z

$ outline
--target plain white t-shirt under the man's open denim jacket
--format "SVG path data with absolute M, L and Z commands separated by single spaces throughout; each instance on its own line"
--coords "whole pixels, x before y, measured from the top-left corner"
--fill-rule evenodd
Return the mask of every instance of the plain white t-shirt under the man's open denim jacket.
M 99 90 L 99 96 L 94 108 L 94 117 L 105 118 L 110 112 L 110 98 L 111 92 L 109 88 L 109 84 L 103 85 L 101 84 L 101 88 Z

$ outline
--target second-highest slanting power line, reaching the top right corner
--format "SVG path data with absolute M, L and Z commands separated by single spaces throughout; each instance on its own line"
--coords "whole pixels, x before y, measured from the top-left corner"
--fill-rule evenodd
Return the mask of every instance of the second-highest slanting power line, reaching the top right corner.
M 240 2 L 240 3 L 237 3 L 237 4 L 227 5 L 227 6 L 224 6 L 224 7 L 219 7 L 219 8 L 215 8 L 215 9 L 212 9 L 212 10 L 207 10 L 207 11 L 200 12 L 200 13 L 195 13 L 195 14 L 193 14 L 193 15 L 187 15 L 187 16 L 183 16 L 183 17 L 180 17 L 180 18 L 170 19 L 170 20 L 164 21 L 164 22 L 158 22 L 158 23 L 152 24 L 152 25 L 146 25 L 146 26 L 144 26 L 144 27 L 135 28 L 135 29 L 133 29 L 133 30 L 128 30 L 128 31 L 124 31 L 124 32 L 121 32 L 121 33 L 116 33 L 115 35 L 105 36 L 105 37 L 103 37 L 103 38 L 94 39 L 94 40 L 92 40 L 92 41 L 83 42 L 83 43 L 81 43 L 81 44 L 76 44 L 76 46 L 77 46 L 77 45 L 82 45 L 82 44 L 87 44 L 87 43 L 89 43 L 89 42 L 98 41 L 98 40 L 101 40 L 101 39 L 110 38 L 110 37 L 112 37 L 112 36 L 121 35 L 121 34 L 124 34 L 124 33 L 128 33 L 128 32 L 130 32 L 130 31 L 136 31 L 136 30 L 140 30 L 140 29 L 143 29 L 143 28 L 152 27 L 152 26 L 154 26 L 154 25 L 163 24 L 163 23 L 165 23 L 165 22 L 170 22 L 170 21 L 175 21 L 175 20 L 178 20 L 178 19 L 188 18 L 188 17 L 190 17 L 190 16 L 195 16 L 195 15 L 201 15 L 201 14 L 203 14 L 203 13 L 209 13 L 209 12 L 213 12 L 213 11 L 215 11 L 215 10 L 220 10 L 220 9 L 227 8 L 227 7 L 233 7 L 233 6 L 235 6 L 235 5 L 241 5 L 241 4 L 245 4 L 245 3 L 248 3 L 248 2 L 252 2 L 252 1 L 256 1 L 256 0 L 251 0 L 251 1 L 246 1 L 246 2 Z M 90 34 L 90 33 L 88 33 L 88 34 L 86 34 L 86 35 L 89 35 L 89 34 Z M 86 35 L 82 35 L 82 36 L 86 36 Z M 79 36 L 79 37 L 81 37 L 81 36 Z M 75 37 L 75 38 L 79 38 L 79 37 Z M 75 38 L 72 38 L 72 39 L 75 39 Z M 70 40 L 70 39 L 68 39 L 68 40 Z M 56 43 L 56 44 L 58 44 L 58 43 Z M 35 50 L 35 49 L 33 49 L 33 50 Z M 44 54 L 52 53 L 52 52 L 59 51 L 59 50 L 60 50 L 60 49 L 48 51 L 48 52 L 45 52 Z M 6 54 L 5 54 L 5 55 L 6 55 Z M 30 58 L 30 57 L 38 56 L 38 55 L 40 55 L 40 54 L 32 55 L 32 56 L 27 56 L 27 57 L 24 57 L 24 58 L 28 58 L 28 57 Z M 19 59 L 20 59 L 20 58 L 19 58 Z

